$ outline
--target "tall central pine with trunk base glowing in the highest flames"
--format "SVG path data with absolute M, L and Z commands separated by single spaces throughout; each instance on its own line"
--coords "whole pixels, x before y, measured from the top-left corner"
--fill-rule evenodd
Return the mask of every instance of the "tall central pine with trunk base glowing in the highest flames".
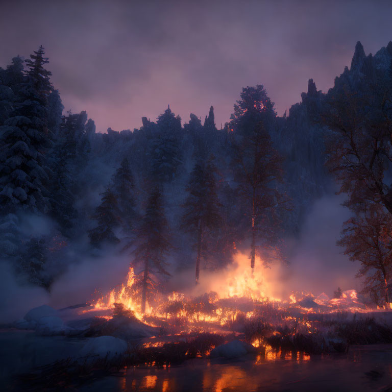
M 269 135 L 275 117 L 274 104 L 261 85 L 243 88 L 241 100 L 234 105 L 231 115 L 232 165 L 237 190 L 244 202 L 246 227 L 251 229 L 252 272 L 256 237 L 264 241 L 264 247 L 276 241 L 277 212 L 287 203 L 287 198 L 276 187 L 276 183 L 282 181 L 283 170 Z

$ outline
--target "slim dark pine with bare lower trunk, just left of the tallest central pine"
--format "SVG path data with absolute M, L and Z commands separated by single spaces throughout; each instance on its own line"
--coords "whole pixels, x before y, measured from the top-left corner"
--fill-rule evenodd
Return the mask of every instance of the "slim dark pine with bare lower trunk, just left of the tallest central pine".
M 202 251 L 206 246 L 204 238 L 208 230 L 218 229 L 222 225 L 222 217 L 219 212 L 219 199 L 216 192 L 215 180 L 216 167 L 212 159 L 207 165 L 202 162 L 195 164 L 190 174 L 189 183 L 186 187 L 188 197 L 184 204 L 182 225 L 197 237 L 197 258 L 195 268 L 195 280 L 199 282 L 200 260 Z

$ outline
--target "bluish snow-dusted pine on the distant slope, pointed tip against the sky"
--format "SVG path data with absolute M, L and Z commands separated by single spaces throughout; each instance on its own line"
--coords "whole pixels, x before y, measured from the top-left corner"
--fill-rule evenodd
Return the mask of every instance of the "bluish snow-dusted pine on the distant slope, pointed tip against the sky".
M 158 181 L 172 181 L 182 160 L 178 140 L 181 118 L 168 106 L 158 117 L 157 128 L 151 154 L 153 176 Z

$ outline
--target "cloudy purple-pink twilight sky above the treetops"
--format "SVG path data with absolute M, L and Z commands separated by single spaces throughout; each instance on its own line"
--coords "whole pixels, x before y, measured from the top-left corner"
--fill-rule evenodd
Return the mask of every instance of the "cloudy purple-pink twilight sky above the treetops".
M 383 1 L 0 0 L 0 66 L 42 44 L 65 110 L 97 131 L 141 126 L 167 104 L 183 122 L 215 108 L 229 119 L 241 88 L 263 84 L 279 115 L 313 78 L 333 85 L 356 41 L 392 39 Z

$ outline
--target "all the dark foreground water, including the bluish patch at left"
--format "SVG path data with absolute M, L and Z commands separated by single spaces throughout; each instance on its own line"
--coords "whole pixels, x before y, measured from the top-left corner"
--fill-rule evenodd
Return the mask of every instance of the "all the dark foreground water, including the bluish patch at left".
M 0 333 L 0 390 L 10 375 L 75 355 L 84 340 Z M 392 392 L 392 345 L 350 346 L 345 354 L 266 351 L 240 360 L 195 358 L 178 366 L 131 367 L 124 376 L 86 384 L 80 392 L 315 391 Z

